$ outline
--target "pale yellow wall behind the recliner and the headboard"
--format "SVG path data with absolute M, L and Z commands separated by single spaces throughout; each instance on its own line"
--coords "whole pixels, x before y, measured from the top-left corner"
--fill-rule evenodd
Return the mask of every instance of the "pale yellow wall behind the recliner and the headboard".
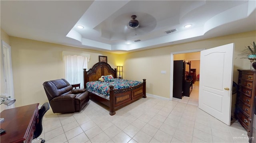
M 47 80 L 65 78 L 62 51 L 89 53 L 88 69 L 98 62 L 98 55 L 107 56 L 108 64 L 116 68 L 115 59 L 120 56 L 18 37 L 10 37 L 10 46 L 16 106 L 48 101 L 42 84 Z

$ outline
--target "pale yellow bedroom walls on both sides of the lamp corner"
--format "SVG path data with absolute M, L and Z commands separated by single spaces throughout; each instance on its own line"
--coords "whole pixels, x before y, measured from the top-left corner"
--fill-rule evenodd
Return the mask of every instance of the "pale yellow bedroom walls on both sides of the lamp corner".
M 2 35 L 2 34 L 1 34 Z M 116 68 L 123 66 L 123 78 L 142 81 L 146 78 L 148 94 L 170 98 L 170 53 L 190 49 L 210 49 L 235 43 L 234 81 L 238 80 L 237 69 L 250 69 L 248 59 L 240 59 L 244 46 L 256 39 L 256 31 L 215 37 L 126 54 L 112 54 L 18 37 L 10 37 L 12 69 L 16 106 L 47 101 L 42 83 L 64 78 L 62 51 L 88 52 L 91 55 L 88 69 L 98 62 L 98 55 L 108 56 L 108 63 Z M 188 58 L 189 59 L 189 58 Z M 166 71 L 166 74 L 161 74 Z M 234 96 L 233 96 L 234 97 Z M 232 104 L 235 103 L 233 98 Z

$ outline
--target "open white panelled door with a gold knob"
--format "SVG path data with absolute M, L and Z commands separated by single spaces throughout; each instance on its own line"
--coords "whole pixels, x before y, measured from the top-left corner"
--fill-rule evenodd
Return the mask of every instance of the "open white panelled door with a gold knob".
M 230 125 L 234 43 L 201 51 L 198 108 Z

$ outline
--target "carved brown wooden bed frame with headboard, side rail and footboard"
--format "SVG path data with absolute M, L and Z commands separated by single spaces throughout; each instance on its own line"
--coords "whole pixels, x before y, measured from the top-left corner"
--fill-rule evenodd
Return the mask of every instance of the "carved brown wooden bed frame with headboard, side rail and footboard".
M 88 71 L 84 69 L 84 88 L 86 88 L 86 82 L 96 81 L 102 75 L 106 76 L 110 74 L 112 74 L 114 78 L 117 77 L 116 69 L 112 69 L 110 65 L 105 62 L 96 63 L 92 69 Z M 116 114 L 115 111 L 117 109 L 122 108 L 123 106 L 126 106 L 142 97 L 146 98 L 146 79 L 143 79 L 141 84 L 132 86 L 130 88 L 114 90 L 114 86 L 109 87 L 109 100 L 92 92 L 89 92 L 89 96 L 91 100 L 95 100 L 108 106 L 110 108 L 109 114 L 111 116 Z

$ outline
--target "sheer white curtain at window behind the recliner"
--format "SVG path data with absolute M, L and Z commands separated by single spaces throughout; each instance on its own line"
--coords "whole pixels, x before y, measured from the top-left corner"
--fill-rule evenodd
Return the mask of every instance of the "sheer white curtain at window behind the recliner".
M 65 76 L 70 84 L 80 83 L 80 88 L 84 88 L 83 69 L 87 69 L 87 57 L 78 55 L 64 55 Z

